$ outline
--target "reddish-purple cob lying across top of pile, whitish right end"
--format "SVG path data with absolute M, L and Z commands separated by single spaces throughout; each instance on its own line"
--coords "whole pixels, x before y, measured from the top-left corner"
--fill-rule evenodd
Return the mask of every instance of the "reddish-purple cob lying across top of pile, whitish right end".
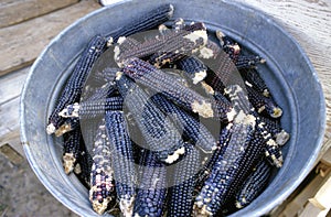
M 199 54 L 200 50 L 207 43 L 205 26 L 202 23 L 194 23 L 188 29 L 190 30 L 169 31 L 167 34 L 157 35 L 154 39 L 146 40 L 129 51 L 122 51 L 119 44 L 114 50 L 115 61 L 119 66 L 122 66 L 130 58 L 153 55 L 154 57 L 151 59 L 158 58 L 158 65 L 161 66 L 163 62 L 174 62 L 183 55 Z M 166 57 L 162 57 L 162 55 L 166 55 Z M 169 56 L 171 59 L 169 59 Z

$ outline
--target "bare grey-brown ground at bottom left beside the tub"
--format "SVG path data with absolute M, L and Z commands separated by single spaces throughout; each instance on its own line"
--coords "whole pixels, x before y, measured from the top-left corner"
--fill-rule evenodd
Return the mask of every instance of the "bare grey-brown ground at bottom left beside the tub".
M 41 184 L 28 161 L 15 165 L 0 154 L 0 217 L 76 217 Z

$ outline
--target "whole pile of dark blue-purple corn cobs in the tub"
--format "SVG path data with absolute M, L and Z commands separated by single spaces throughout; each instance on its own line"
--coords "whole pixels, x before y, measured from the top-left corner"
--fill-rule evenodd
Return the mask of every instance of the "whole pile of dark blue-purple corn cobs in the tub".
M 229 214 L 282 165 L 289 134 L 257 72 L 265 61 L 221 31 L 211 41 L 201 22 L 166 26 L 173 10 L 161 6 L 110 37 L 94 36 L 50 115 L 64 171 L 89 189 L 98 214 Z M 153 36 L 130 36 L 154 28 Z M 114 59 L 95 69 L 106 53 Z M 216 130 L 203 124 L 210 120 Z

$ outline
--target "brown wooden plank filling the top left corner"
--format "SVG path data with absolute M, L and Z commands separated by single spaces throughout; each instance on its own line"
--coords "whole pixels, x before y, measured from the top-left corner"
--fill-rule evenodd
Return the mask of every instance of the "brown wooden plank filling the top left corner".
M 78 0 L 56 0 L 52 3 L 49 0 L 1 0 L 0 28 L 17 24 L 77 2 Z

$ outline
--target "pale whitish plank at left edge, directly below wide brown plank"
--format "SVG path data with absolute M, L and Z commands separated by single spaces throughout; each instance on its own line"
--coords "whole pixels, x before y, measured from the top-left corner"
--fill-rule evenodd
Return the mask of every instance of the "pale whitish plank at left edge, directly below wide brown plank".
M 0 78 L 0 105 L 21 95 L 29 69 L 25 67 Z

